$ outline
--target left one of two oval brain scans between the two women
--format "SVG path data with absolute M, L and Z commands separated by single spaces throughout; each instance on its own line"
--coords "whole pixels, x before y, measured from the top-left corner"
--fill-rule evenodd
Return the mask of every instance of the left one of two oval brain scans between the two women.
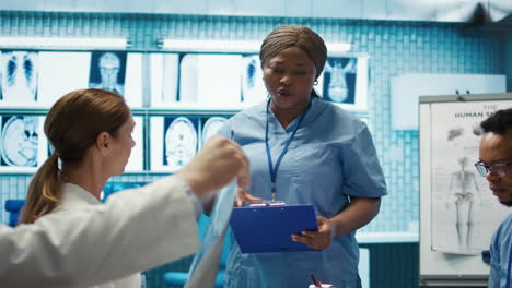
M 163 165 L 175 171 L 183 168 L 197 152 L 197 119 L 166 117 L 164 120 Z

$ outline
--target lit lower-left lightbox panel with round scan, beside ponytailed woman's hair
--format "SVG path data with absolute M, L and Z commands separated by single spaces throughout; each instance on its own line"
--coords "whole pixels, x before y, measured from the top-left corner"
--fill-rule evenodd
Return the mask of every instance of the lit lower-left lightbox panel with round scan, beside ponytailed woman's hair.
M 44 118 L 0 116 L 0 169 L 34 171 L 48 157 Z

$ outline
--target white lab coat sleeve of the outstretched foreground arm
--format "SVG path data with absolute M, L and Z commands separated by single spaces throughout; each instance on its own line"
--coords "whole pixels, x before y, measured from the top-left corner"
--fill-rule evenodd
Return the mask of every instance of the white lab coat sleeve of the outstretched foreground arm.
M 166 177 L 66 217 L 0 226 L 0 287 L 88 287 L 191 254 L 193 201 L 185 182 Z

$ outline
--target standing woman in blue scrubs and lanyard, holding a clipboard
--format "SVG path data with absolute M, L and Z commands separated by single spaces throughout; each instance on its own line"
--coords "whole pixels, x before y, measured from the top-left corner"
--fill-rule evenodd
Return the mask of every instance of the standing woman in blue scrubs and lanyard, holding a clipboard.
M 225 287 L 305 288 L 311 274 L 361 287 L 356 230 L 375 217 L 387 193 L 372 136 L 364 122 L 313 89 L 327 59 L 315 32 L 279 26 L 259 58 L 268 101 L 235 115 L 220 132 L 251 160 L 252 185 L 238 199 L 313 204 L 318 231 L 291 237 L 322 251 L 243 254 L 232 241 Z

